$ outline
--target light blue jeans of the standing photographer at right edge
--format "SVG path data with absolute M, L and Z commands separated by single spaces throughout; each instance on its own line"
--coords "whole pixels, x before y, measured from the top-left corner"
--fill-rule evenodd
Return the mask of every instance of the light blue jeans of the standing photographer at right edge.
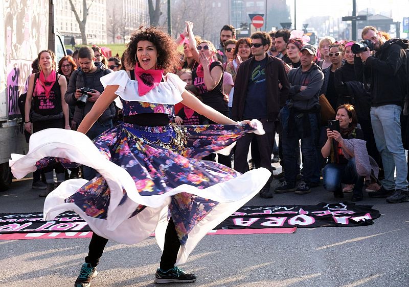
M 402 108 L 397 105 L 371 107 L 372 129 L 385 174 L 385 179 L 381 180 L 381 183 L 387 190 L 396 188 L 407 191 L 407 162 L 402 145 L 401 112 Z

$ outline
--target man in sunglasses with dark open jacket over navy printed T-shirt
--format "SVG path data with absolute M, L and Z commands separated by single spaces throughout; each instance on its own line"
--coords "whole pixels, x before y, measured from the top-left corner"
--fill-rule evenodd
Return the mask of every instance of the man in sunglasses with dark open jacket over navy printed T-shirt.
M 275 135 L 275 123 L 289 93 L 289 81 L 282 60 L 267 54 L 271 37 L 266 32 L 251 36 L 253 57 L 244 61 L 236 75 L 232 119 L 256 118 L 263 123 L 265 135 L 245 135 L 237 141 L 234 153 L 235 170 L 248 171 L 247 154 L 250 143 L 257 138 L 260 154 L 259 165 L 272 174 L 271 153 Z M 280 84 L 279 84 L 280 83 Z M 253 154 L 252 154 L 253 156 Z M 260 197 L 271 198 L 272 176 L 260 190 Z

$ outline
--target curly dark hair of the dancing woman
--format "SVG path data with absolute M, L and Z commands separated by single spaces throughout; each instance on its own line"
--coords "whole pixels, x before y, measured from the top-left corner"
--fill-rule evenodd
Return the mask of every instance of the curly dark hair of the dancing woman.
M 174 72 L 181 64 L 177 45 L 172 37 L 166 32 L 155 27 L 143 29 L 141 26 L 137 31 L 131 34 L 129 43 L 124 52 L 127 65 L 135 66 L 138 62 L 137 48 L 139 41 L 152 42 L 157 50 L 157 67 L 166 72 Z

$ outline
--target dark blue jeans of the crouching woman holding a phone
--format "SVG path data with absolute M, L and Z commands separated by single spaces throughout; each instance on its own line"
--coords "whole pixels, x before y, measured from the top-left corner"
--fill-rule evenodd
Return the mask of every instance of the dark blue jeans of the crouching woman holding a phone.
M 356 172 L 355 159 L 348 164 L 327 164 L 323 170 L 324 188 L 330 192 L 340 191 L 341 183 L 354 185 L 353 193 L 362 195 L 363 176 Z

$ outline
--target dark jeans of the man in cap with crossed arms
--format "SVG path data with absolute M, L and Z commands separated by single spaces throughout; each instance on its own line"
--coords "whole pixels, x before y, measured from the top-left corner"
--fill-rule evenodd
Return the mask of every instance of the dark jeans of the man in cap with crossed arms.
M 309 135 L 303 135 L 303 117 L 294 115 L 294 126 L 288 126 L 290 111 L 287 107 L 283 108 L 281 122 L 283 125 L 282 142 L 284 156 L 285 180 L 295 183 L 299 167 L 297 167 L 297 150 L 299 141 L 301 140 L 301 153 L 303 156 L 303 181 L 309 184 L 315 177 L 319 178 L 319 167 L 316 157 L 316 135 L 318 133 L 318 119 L 315 113 L 307 113 L 304 116 L 308 117 L 310 124 Z M 289 129 L 293 129 L 293 135 L 288 136 Z

